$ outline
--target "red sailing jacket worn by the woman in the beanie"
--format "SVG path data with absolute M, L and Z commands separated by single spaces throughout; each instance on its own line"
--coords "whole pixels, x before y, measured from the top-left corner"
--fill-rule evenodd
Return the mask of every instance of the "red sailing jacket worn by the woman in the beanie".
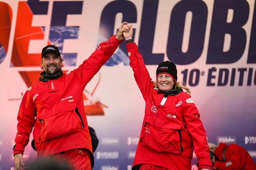
M 164 94 L 157 93 L 137 45 L 127 43 L 126 47 L 134 78 L 146 102 L 133 166 L 153 164 L 172 170 L 191 169 L 195 148 L 200 169 L 212 169 L 205 130 L 191 96 L 180 92 L 164 102 Z

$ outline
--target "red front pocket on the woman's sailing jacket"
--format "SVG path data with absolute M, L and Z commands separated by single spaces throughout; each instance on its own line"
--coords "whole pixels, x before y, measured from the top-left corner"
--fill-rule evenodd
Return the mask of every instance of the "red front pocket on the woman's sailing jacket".
M 181 126 L 161 128 L 146 122 L 140 144 L 156 152 L 179 154 L 183 152 L 180 129 Z

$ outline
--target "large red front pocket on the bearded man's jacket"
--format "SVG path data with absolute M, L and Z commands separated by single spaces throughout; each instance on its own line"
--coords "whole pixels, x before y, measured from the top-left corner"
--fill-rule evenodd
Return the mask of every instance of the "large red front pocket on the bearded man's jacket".
M 42 123 L 38 140 L 41 142 L 81 131 L 84 128 L 82 116 L 76 104 L 63 106 L 60 113 L 40 119 Z

